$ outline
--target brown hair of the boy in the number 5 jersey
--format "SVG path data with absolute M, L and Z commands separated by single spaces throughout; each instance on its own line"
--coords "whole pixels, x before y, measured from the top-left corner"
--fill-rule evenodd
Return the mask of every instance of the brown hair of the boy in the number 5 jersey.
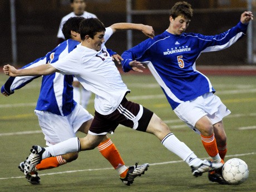
M 170 16 L 173 17 L 173 19 L 178 16 L 183 16 L 186 19 L 191 19 L 193 17 L 193 9 L 191 7 L 191 4 L 185 1 L 175 3 L 170 10 L 169 17 Z

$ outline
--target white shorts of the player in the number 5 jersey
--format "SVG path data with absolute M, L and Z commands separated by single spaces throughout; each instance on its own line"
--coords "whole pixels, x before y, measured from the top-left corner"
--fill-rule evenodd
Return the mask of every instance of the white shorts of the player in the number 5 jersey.
M 203 116 L 208 116 L 214 125 L 231 112 L 212 92 L 205 93 L 194 100 L 186 101 L 174 109 L 175 114 L 192 130 L 200 134 L 195 128 L 196 122 Z

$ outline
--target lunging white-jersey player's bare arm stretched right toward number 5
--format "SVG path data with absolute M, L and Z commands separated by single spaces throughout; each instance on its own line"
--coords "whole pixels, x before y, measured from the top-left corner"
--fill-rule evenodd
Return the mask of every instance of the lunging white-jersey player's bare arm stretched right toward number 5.
M 152 26 L 147 26 L 145 24 L 137 24 L 137 23 L 115 23 L 110 26 L 113 30 L 113 33 L 120 30 L 139 30 L 147 37 L 153 38 L 155 36 L 155 32 Z

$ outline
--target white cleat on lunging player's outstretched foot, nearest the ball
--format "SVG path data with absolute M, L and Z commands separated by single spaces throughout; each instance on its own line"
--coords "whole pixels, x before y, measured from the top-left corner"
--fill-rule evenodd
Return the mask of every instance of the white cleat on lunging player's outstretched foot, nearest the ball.
M 220 169 L 223 167 L 223 163 L 212 163 L 211 161 L 204 160 L 203 163 L 199 166 L 191 166 L 192 174 L 197 178 L 201 176 L 203 173 L 208 171 L 213 171 L 216 169 Z

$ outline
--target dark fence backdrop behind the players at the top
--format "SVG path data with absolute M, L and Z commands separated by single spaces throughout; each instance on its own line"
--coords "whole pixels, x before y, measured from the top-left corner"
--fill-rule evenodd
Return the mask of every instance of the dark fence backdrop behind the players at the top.
M 86 11 L 95 13 L 99 19 L 110 26 L 116 22 L 132 21 L 149 24 L 154 27 L 155 34 L 162 33 L 169 26 L 168 9 L 178 1 L 171 0 L 87 0 Z M 224 32 L 238 23 L 240 14 L 248 9 L 248 2 L 255 10 L 256 1 L 250 0 L 198 0 L 188 1 L 194 8 L 194 17 L 187 32 L 198 32 L 204 35 L 215 35 Z M 15 17 L 11 18 L 11 5 Z M 130 11 L 129 11 L 130 10 Z M 23 65 L 57 45 L 57 31 L 61 18 L 72 11 L 69 0 L 1 0 L 0 30 L 2 63 L 13 62 L 16 54 L 17 63 Z M 254 16 L 256 16 L 254 11 Z M 130 20 L 129 20 L 130 19 Z M 12 22 L 11 22 L 12 21 Z M 13 52 L 12 23 L 14 23 L 17 53 Z M 252 22 L 252 62 L 248 62 L 248 39 L 243 38 L 234 46 L 221 52 L 202 54 L 198 60 L 200 65 L 255 65 L 256 31 L 255 21 Z M 107 42 L 107 46 L 121 54 L 127 46 L 136 45 L 145 40 L 141 32 L 116 33 Z

